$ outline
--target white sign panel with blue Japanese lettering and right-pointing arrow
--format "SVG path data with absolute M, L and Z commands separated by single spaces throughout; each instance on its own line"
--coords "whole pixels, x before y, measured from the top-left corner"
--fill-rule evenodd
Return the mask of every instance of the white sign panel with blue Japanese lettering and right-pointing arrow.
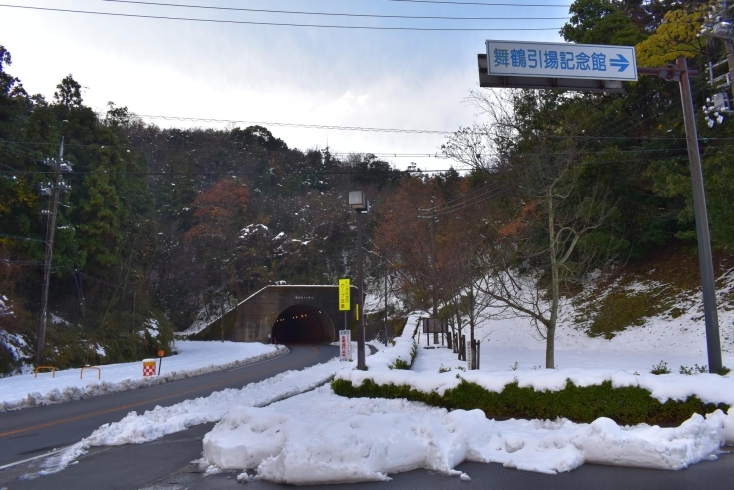
M 632 46 L 487 41 L 487 73 L 635 81 L 637 64 Z

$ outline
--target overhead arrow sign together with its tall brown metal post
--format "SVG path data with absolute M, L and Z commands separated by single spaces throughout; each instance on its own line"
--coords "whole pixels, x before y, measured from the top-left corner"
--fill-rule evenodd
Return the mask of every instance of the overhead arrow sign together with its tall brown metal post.
M 693 186 L 708 365 L 709 372 L 720 372 L 723 365 L 711 237 L 689 81 L 689 77 L 698 75 L 698 72 L 688 69 L 686 58 L 678 58 L 676 64 L 660 68 L 638 68 L 635 48 L 632 46 L 488 40 L 486 54 L 479 54 L 477 61 L 479 86 L 487 88 L 623 93 L 622 82 L 637 81 L 638 74 L 654 75 L 668 81 L 679 82 Z

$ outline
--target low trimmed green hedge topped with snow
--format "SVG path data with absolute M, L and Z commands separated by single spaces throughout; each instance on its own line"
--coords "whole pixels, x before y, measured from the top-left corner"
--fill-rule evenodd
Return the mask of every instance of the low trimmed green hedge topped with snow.
M 574 422 L 592 422 L 608 417 L 618 424 L 639 423 L 679 425 L 694 413 L 706 414 L 717 408 L 726 412 L 729 406 L 703 403 L 690 396 L 685 401 L 668 400 L 660 403 L 651 393 L 637 386 L 612 387 L 605 381 L 600 385 L 576 386 L 570 380 L 560 391 L 535 391 L 511 383 L 500 393 L 461 380 L 456 388 L 443 395 L 424 393 L 407 385 L 379 385 L 366 379 L 355 387 L 350 381 L 337 379 L 331 384 L 334 392 L 350 398 L 405 398 L 447 409 L 478 408 L 489 418 L 551 419 L 565 417 Z

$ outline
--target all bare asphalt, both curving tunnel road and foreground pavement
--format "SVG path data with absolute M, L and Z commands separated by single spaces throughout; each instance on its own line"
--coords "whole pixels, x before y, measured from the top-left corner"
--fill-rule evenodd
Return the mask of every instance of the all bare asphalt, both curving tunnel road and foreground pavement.
M 283 370 L 323 362 L 334 357 L 335 353 L 336 348 L 330 346 L 294 346 L 289 355 L 258 365 L 80 402 L 0 414 L 0 460 L 18 461 L 42 453 L 47 448 L 73 444 L 89 435 L 99 425 L 119 420 L 131 410 L 141 411 L 155 405 L 170 405 L 185 399 L 205 396 L 223 388 L 241 387 Z M 163 388 L 171 391 L 163 392 Z M 87 403 L 89 405 L 86 405 Z M 61 412 L 56 412 L 59 409 Z M 34 415 L 36 413 L 40 415 Z M 201 457 L 202 439 L 213 425 L 191 427 L 147 444 L 91 448 L 88 454 L 79 459 L 78 464 L 53 475 L 30 479 L 24 477 L 34 474 L 39 469 L 42 459 L 14 465 L 0 471 L 0 490 L 287 488 L 284 485 L 260 481 L 243 485 L 237 483 L 237 473 L 204 476 L 205 468 L 192 461 Z M 2 464 L 5 463 L 0 463 Z M 472 480 L 465 482 L 457 477 L 415 470 L 391 475 L 393 479 L 389 482 L 316 485 L 308 488 L 313 490 L 734 489 L 732 454 L 723 454 L 717 461 L 705 461 L 681 471 L 589 464 L 568 473 L 544 475 L 507 469 L 498 464 L 479 463 L 464 463 L 457 469 L 466 472 Z

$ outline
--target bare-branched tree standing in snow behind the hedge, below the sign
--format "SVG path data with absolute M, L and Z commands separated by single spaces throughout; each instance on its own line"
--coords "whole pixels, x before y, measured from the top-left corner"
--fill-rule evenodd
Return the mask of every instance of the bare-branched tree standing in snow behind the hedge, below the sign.
M 487 133 L 474 134 L 479 126 L 457 133 L 444 151 L 504 183 L 503 206 L 481 255 L 487 274 L 480 291 L 531 319 L 546 341 L 546 368 L 553 369 L 561 290 L 615 258 L 618 242 L 606 232 L 617 210 L 604 183 L 587 172 L 583 152 L 562 137 L 562 125 L 549 119 L 541 128 L 526 125 L 524 118 L 547 101 L 525 95 L 474 94 L 489 116 Z

